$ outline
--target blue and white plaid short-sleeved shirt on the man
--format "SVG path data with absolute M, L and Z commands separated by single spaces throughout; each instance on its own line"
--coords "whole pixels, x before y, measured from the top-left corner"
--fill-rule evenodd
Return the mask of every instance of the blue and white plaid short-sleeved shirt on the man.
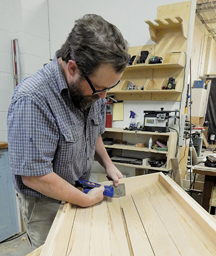
M 24 79 L 12 96 L 7 117 L 9 161 L 16 191 L 45 197 L 26 187 L 24 176 L 55 172 L 70 184 L 88 180 L 95 144 L 105 130 L 105 100 L 86 112 L 76 108 L 57 60 Z

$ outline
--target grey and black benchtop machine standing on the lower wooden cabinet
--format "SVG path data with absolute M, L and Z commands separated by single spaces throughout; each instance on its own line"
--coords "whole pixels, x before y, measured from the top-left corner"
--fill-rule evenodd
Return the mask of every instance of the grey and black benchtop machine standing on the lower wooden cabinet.
M 174 112 L 175 115 L 170 115 L 170 113 Z M 143 124 L 143 131 L 159 131 L 160 133 L 167 133 L 170 131 L 169 129 L 169 118 L 179 118 L 179 110 L 171 110 L 165 111 L 163 108 L 160 110 L 148 111 L 144 110 L 144 124 Z

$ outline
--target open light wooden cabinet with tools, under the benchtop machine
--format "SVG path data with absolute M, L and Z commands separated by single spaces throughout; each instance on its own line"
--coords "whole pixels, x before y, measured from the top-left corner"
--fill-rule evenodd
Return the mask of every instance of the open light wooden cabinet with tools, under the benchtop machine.
M 166 160 L 165 167 L 151 167 L 148 162 L 146 165 L 134 165 L 117 163 L 122 166 L 129 166 L 139 169 L 150 169 L 157 171 L 168 172 L 171 170 L 171 158 L 175 158 L 176 144 L 177 144 L 177 133 L 170 131 L 168 133 L 156 133 L 148 131 L 129 131 L 121 128 L 106 128 L 103 134 L 105 138 L 113 138 L 113 145 L 105 145 L 111 156 L 124 156 L 124 157 L 135 157 L 140 159 L 151 159 L 151 160 Z M 158 139 L 164 141 L 167 146 L 167 151 L 158 151 L 156 148 L 149 149 L 149 139 L 153 139 L 153 145 Z M 115 143 L 116 140 L 124 141 L 126 144 Z M 137 143 L 145 143 L 145 147 L 136 147 Z

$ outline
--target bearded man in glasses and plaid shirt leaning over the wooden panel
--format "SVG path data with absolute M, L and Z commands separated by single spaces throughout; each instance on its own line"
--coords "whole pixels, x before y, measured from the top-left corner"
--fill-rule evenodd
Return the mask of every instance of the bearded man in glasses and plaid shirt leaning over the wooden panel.
M 121 32 L 101 16 L 75 21 L 53 60 L 16 86 L 7 117 L 9 162 L 32 249 L 45 242 L 61 201 L 89 207 L 104 187 L 87 194 L 94 156 L 115 185 L 122 178 L 105 150 L 105 97 L 129 61 Z

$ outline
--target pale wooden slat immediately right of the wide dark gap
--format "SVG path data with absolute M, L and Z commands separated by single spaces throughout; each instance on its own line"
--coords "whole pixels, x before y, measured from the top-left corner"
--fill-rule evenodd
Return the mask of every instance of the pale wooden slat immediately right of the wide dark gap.
M 124 212 L 130 242 L 132 243 L 133 255 L 154 255 L 132 197 L 130 195 L 121 197 L 120 204 Z

